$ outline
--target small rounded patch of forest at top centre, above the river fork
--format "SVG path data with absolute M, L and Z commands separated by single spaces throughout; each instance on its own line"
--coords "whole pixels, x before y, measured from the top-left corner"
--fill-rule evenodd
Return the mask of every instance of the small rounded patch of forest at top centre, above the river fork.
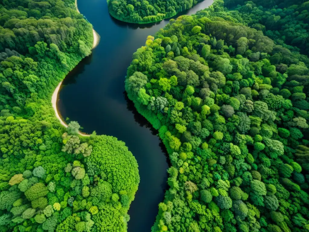
M 116 19 L 129 23 L 147 24 L 171 18 L 190 9 L 202 0 L 107 0 L 108 11 Z

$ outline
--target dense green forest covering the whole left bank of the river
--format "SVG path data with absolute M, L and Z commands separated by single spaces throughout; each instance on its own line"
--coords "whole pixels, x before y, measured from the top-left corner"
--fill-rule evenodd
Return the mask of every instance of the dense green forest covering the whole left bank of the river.
M 0 12 L 0 231 L 125 232 L 135 158 L 114 137 L 64 128 L 50 102 L 91 53 L 91 24 L 72 0 L 5 0 Z

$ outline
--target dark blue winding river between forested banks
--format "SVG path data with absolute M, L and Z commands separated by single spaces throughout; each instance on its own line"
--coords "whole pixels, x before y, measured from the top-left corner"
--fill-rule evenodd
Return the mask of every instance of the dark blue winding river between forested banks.
M 205 0 L 180 15 L 194 14 L 212 2 Z M 168 161 L 157 131 L 151 129 L 125 96 L 124 80 L 133 52 L 169 20 L 146 25 L 124 23 L 109 15 L 105 0 L 78 0 L 78 9 L 101 39 L 91 56 L 63 81 L 59 113 L 63 118 L 78 121 L 84 132 L 96 131 L 98 135 L 112 135 L 125 142 L 138 162 L 141 178 L 129 209 L 128 231 L 150 231 L 167 189 Z

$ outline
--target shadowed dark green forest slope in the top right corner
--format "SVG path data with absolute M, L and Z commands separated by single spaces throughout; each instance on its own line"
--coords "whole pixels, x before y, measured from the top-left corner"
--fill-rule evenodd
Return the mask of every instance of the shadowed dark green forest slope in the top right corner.
M 227 0 L 224 4 L 232 10 L 225 15 L 235 22 L 263 31 L 276 45 L 309 54 L 309 2 Z

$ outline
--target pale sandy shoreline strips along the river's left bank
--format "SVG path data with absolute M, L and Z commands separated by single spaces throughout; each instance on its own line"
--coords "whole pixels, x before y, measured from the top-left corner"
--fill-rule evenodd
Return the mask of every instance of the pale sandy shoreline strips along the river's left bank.
M 80 14 L 78 7 L 77 7 L 77 0 L 75 0 L 75 7 L 76 7 L 76 11 Z M 95 47 L 99 44 L 100 41 L 100 36 L 99 34 L 92 28 L 92 33 L 93 33 L 93 45 L 92 45 L 92 49 L 95 49 Z M 68 124 L 66 124 L 65 121 L 62 120 L 62 118 L 60 117 L 60 114 L 58 113 L 58 109 L 57 109 L 57 99 L 58 99 L 58 94 L 59 94 L 59 90 L 61 87 L 62 81 L 57 85 L 57 87 L 55 88 L 53 95 L 52 95 L 52 106 L 53 109 L 55 111 L 56 114 L 56 118 L 60 121 L 61 125 L 64 127 L 68 127 Z M 80 131 L 78 131 L 79 135 L 82 136 L 90 136 L 88 134 L 82 133 Z

